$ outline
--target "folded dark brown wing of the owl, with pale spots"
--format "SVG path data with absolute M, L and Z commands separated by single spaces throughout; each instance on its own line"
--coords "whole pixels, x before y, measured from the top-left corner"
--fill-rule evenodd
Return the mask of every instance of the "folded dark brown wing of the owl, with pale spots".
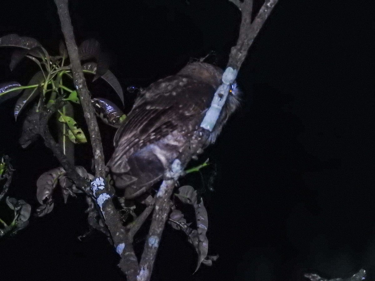
M 151 147 L 172 132 L 182 135 L 194 130 L 202 121 L 214 91 L 209 84 L 181 76 L 169 76 L 151 84 L 117 130 L 115 151 L 107 164 L 112 172 L 128 172 L 128 159 L 133 154 Z

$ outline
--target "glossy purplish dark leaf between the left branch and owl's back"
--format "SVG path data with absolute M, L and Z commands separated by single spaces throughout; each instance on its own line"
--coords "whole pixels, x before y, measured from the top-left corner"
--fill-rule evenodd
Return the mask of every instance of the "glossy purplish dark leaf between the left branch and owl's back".
M 100 117 L 104 123 L 115 128 L 120 127 L 126 115 L 110 100 L 103 98 L 92 99 L 96 115 Z

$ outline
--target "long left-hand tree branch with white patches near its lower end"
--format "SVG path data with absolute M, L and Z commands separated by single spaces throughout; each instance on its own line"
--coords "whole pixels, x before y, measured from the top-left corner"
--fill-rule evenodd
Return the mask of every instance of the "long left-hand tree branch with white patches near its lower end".
M 78 48 L 75 43 L 72 22 L 69 16 L 68 0 L 55 0 L 55 4 L 57 6 L 61 29 L 65 37 L 66 48 L 68 49 L 71 61 L 74 85 L 80 96 L 84 117 L 89 128 L 90 141 L 93 147 L 96 176 L 95 181 L 92 183 L 93 193 L 104 215 L 105 223 L 110 230 L 116 251 L 121 256 L 118 266 L 126 274 L 127 279 L 133 281 L 136 280 L 136 275 L 138 273 L 138 262 L 133 246 L 121 224 L 120 215 L 111 200 L 114 194 L 113 187 L 108 185 L 105 181 L 106 172 L 101 137 L 95 111 L 91 105 L 90 93 L 87 89 L 86 80 L 83 76 L 82 66 L 78 56 Z

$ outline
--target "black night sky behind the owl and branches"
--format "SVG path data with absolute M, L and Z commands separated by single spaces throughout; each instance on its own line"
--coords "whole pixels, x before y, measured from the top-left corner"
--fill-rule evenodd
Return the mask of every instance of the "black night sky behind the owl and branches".
M 298 281 L 304 272 L 349 277 L 360 268 L 375 280 L 371 2 L 279 1 L 240 69 L 242 108 L 206 154 L 218 170 L 215 191 L 204 194 L 209 254 L 220 258 L 192 275 L 195 250 L 167 227 L 153 280 Z M 147 86 L 190 58 L 213 50 L 224 67 L 240 23 L 226 0 L 80 0 L 70 10 L 77 42 L 95 38 L 111 54 L 126 111 L 134 99 L 126 87 Z M 62 33 L 54 2 L 2 0 L 0 36 L 10 33 L 34 37 L 57 54 Z M 0 82 L 25 85 L 37 68 L 24 60 L 10 73 L 12 51 L 0 49 Z M 104 82 L 96 83 L 94 95 L 120 105 Z M 7 195 L 36 208 L 36 179 L 58 163 L 41 141 L 20 148 L 15 100 L 0 111 L 0 154 L 17 169 Z M 101 124 L 101 132 L 109 154 L 114 130 Z M 87 164 L 90 148 L 77 155 Z M 57 192 L 51 214 L 0 241 L 0 280 L 123 280 L 102 235 L 78 241 L 88 229 L 85 209 L 83 198 L 64 205 Z

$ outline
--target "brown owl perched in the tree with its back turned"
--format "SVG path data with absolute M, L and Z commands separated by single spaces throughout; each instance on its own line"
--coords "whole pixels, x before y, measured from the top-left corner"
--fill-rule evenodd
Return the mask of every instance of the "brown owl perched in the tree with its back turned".
M 228 94 L 212 132 L 200 127 L 223 71 L 207 63 L 187 64 L 174 76 L 141 92 L 114 138 L 108 162 L 115 186 L 125 198 L 145 193 L 177 158 L 182 166 L 214 143 L 222 126 L 239 106 L 236 87 Z

